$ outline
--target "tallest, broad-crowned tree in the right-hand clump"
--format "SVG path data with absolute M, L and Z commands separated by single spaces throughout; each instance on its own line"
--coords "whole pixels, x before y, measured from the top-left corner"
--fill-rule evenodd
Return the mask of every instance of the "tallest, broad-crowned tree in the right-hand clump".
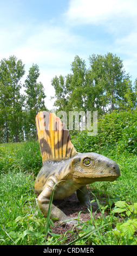
M 123 81 L 126 79 L 122 60 L 112 53 L 105 56 L 93 54 L 89 58 L 90 68 L 95 83 L 95 87 L 100 91 L 99 102 L 108 110 L 114 110 L 125 92 Z

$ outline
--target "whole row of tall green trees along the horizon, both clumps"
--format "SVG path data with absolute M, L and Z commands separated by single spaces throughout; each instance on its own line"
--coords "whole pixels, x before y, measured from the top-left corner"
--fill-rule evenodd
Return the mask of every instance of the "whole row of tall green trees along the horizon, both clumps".
M 113 53 L 75 56 L 71 73 L 51 80 L 55 89 L 56 111 L 130 111 L 137 105 L 137 78 L 132 84 L 122 60 Z M 15 56 L 0 62 L 0 143 L 37 139 L 35 117 L 45 107 L 45 92 L 37 82 L 40 70 L 32 64 L 24 84 L 25 65 Z M 22 91 L 24 90 L 24 93 Z

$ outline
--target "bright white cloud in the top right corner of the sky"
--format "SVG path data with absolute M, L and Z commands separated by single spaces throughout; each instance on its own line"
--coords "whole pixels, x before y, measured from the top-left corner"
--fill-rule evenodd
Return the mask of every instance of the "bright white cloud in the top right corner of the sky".
M 70 0 L 69 21 L 75 24 L 102 24 L 116 16 L 136 16 L 136 0 Z

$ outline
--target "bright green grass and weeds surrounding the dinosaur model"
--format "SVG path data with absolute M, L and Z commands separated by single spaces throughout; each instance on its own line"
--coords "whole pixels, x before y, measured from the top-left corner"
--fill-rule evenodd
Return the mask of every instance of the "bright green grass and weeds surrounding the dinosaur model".
M 100 154 L 119 164 L 121 176 L 90 185 L 101 216 L 96 218 L 89 209 L 90 220 L 76 234 L 69 232 L 74 237 L 69 244 L 136 245 L 137 156 L 109 148 Z M 53 234 L 53 221 L 48 220 L 47 229 L 47 218 L 38 209 L 34 181 L 41 166 L 38 142 L 0 145 L 0 245 L 67 244 L 68 233 Z

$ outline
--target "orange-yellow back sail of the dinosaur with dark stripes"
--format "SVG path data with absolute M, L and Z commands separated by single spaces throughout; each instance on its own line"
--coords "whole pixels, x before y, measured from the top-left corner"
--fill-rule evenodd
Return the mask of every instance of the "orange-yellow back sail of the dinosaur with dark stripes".
M 36 127 L 43 163 L 67 160 L 77 154 L 66 125 L 54 113 L 38 113 Z

